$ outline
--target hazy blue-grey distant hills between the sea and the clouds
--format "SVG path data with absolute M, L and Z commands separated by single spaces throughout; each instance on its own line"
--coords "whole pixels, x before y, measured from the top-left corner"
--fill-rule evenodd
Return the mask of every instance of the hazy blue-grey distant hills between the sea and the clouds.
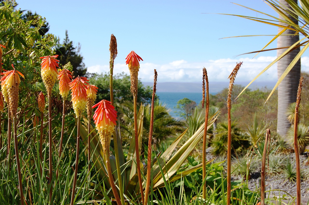
M 249 82 L 236 82 L 236 84 L 241 84 L 243 86 L 248 85 Z M 143 82 L 145 86 L 153 86 L 152 82 Z M 253 82 L 249 88 L 273 88 L 276 82 L 266 82 L 266 81 L 257 81 Z M 228 82 L 211 82 L 209 83 L 209 92 L 217 93 L 220 92 L 223 88 L 229 86 Z M 202 92 L 201 83 L 179 83 L 179 82 L 163 82 L 157 84 L 157 92 Z

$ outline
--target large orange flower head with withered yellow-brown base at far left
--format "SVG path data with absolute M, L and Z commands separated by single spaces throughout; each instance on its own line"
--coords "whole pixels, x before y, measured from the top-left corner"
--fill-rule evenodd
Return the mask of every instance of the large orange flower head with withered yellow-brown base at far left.
M 12 67 L 14 68 L 13 64 Z M 16 71 L 14 68 L 14 70 L 1 73 L 1 75 L 3 76 L 0 79 L 1 86 L 5 88 L 2 89 L 2 92 L 5 91 L 8 96 L 8 104 L 11 112 L 11 117 L 16 117 L 18 106 L 18 91 L 20 84 L 20 78 L 18 74 L 24 78 L 23 74 L 19 71 Z

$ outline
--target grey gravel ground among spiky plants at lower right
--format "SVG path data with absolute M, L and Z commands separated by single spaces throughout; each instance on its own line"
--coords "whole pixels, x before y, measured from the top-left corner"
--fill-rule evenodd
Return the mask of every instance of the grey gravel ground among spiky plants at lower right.
M 211 150 L 209 148 L 207 150 L 207 158 L 214 157 L 213 155 L 210 154 L 210 151 Z M 302 170 L 309 169 L 308 154 L 309 153 L 300 155 L 301 172 Z M 294 153 L 290 153 L 287 155 L 291 159 L 291 162 L 295 162 Z M 216 159 L 216 160 L 222 160 L 222 159 Z M 307 164 L 306 164 L 306 160 L 307 160 Z M 233 163 L 238 163 L 238 162 L 232 161 L 231 163 L 233 164 Z M 267 161 L 266 161 L 266 172 L 267 172 Z M 308 176 L 304 176 L 304 177 L 307 177 L 307 180 L 305 179 L 301 180 L 301 198 L 302 198 L 302 203 L 307 204 L 309 200 L 309 180 L 308 180 Z M 232 181 L 233 180 L 236 181 L 240 179 L 243 179 L 243 176 L 236 175 L 236 176 L 231 177 Z M 260 170 L 253 170 L 250 176 L 250 179 L 248 180 L 248 188 L 254 191 L 259 188 L 260 186 L 259 184 L 260 184 Z M 290 182 L 289 180 L 287 180 L 285 178 L 284 172 L 281 172 L 280 174 L 275 174 L 275 175 L 266 174 L 265 184 L 266 184 L 265 191 L 269 191 L 269 192 L 266 192 L 266 198 L 268 198 L 268 195 L 269 195 L 269 198 L 279 197 L 279 195 L 282 197 L 282 195 L 286 193 L 289 194 L 289 195 L 286 194 L 287 195 L 286 199 L 290 199 L 290 195 L 292 195 L 293 197 L 296 197 L 296 182 Z M 277 190 L 281 190 L 281 191 L 277 191 Z M 286 193 L 284 193 L 283 191 L 285 191 Z

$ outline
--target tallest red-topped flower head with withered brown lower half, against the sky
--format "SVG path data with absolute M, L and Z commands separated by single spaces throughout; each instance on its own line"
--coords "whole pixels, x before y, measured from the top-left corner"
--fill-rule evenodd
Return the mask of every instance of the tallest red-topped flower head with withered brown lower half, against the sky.
M 134 51 L 131 51 L 125 59 L 126 59 L 125 64 L 128 64 L 130 71 L 131 92 L 133 95 L 136 96 L 138 91 L 139 61 L 143 59 L 140 56 L 138 56 Z

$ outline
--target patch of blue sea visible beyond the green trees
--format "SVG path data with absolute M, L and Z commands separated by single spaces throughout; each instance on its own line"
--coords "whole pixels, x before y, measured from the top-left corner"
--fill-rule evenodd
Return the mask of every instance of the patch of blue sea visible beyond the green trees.
M 159 100 L 170 110 L 172 117 L 178 117 L 175 113 L 176 105 L 178 100 L 184 99 L 185 97 L 193 100 L 198 105 L 202 100 L 202 93 L 199 92 L 157 92 Z

